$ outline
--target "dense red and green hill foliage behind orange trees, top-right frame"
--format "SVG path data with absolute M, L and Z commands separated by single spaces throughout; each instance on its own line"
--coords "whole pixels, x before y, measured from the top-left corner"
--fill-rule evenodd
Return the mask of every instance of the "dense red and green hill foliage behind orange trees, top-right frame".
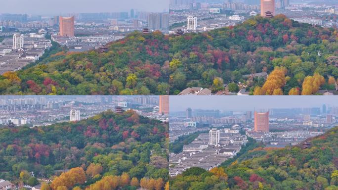
M 234 27 L 171 37 L 170 93 L 193 86 L 214 90 L 217 77 L 226 84 L 242 82 L 253 93 L 264 81 L 246 81 L 242 75 L 270 73 L 276 66 L 286 69 L 285 81 L 278 84 L 282 94 L 301 89 L 304 78 L 314 73 L 337 79 L 337 39 L 336 29 L 298 23 L 284 15 L 257 16 Z

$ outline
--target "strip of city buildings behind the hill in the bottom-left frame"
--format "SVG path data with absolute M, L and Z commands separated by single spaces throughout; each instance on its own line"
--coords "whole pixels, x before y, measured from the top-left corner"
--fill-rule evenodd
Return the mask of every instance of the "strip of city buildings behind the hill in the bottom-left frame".
M 0 125 L 44 126 L 75 122 L 109 109 L 116 112 L 132 109 L 145 117 L 168 121 L 169 96 L 161 99 L 158 96 L 4 96 L 0 98 Z

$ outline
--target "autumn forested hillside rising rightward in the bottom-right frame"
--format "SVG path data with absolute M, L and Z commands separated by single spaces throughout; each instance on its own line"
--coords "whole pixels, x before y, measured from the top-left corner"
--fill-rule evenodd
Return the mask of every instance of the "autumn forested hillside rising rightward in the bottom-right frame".
M 170 180 L 170 190 L 338 189 L 338 127 L 297 146 L 256 148 L 246 157 L 210 172 L 190 168 Z

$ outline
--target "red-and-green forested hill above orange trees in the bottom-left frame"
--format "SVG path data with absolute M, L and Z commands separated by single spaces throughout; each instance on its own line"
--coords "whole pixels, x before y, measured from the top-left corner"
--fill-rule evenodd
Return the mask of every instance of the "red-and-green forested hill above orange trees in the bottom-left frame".
M 116 180 L 121 175 L 134 178 L 134 182 L 144 177 L 161 178 L 163 186 L 168 180 L 168 131 L 167 123 L 134 111 L 122 114 L 106 111 L 79 122 L 32 129 L 0 129 L 0 179 L 25 183 L 28 172 L 50 178 L 58 170 L 81 167 L 78 169 L 86 172 L 84 181 L 87 181 L 86 184 L 82 181 L 82 188 L 102 176 Z M 52 189 L 56 190 L 59 183 L 53 182 Z M 120 185 L 128 186 L 129 182 Z M 134 185 L 138 187 L 136 182 Z M 66 190 L 71 190 L 71 186 Z

